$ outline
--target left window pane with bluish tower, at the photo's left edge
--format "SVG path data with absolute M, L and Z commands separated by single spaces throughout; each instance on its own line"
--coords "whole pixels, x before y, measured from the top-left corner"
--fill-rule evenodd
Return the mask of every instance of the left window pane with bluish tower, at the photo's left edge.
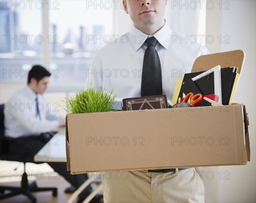
M 0 1 L 0 72 L 2 82 L 22 82 L 32 64 L 41 62 L 41 6 Z M 33 19 L 33 20 L 32 20 Z

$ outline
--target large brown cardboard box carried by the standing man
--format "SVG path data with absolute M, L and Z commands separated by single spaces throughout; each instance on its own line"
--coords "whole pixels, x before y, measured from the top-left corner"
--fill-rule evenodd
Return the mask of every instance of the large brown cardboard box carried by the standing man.
M 66 147 L 72 174 L 250 161 L 243 104 L 68 114 Z

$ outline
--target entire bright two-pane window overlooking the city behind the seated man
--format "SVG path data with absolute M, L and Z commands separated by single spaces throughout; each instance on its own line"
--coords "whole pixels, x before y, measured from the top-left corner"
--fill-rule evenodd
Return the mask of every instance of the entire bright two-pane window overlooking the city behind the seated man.
M 66 90 L 72 83 L 76 91 L 85 83 L 95 52 L 113 34 L 112 1 L 1 0 L 0 6 L 1 83 L 24 84 L 31 66 L 46 58 L 52 73 L 50 87 Z M 50 54 L 43 45 L 49 46 Z

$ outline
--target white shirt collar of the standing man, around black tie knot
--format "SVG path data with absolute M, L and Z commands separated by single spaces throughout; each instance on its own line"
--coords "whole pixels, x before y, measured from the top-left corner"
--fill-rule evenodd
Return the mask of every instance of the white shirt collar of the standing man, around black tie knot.
M 132 27 L 129 34 L 130 40 L 134 46 L 135 51 L 137 51 L 149 37 L 149 35 L 143 33 L 143 31 L 140 31 L 138 28 L 135 28 L 134 26 Z M 172 30 L 169 27 L 169 25 L 167 25 L 167 23 L 165 22 L 163 27 L 159 31 L 157 31 L 153 36 L 164 48 L 168 49 L 171 34 Z

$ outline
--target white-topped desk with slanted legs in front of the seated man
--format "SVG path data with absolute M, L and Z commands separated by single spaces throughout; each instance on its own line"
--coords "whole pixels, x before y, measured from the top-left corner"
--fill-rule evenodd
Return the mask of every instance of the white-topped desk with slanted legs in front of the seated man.
M 65 129 L 61 129 L 56 133 L 48 142 L 44 145 L 42 149 L 34 156 L 34 161 L 37 162 L 66 162 L 66 135 Z M 79 194 L 94 181 L 94 176 L 92 175 L 88 180 L 86 180 L 70 197 L 67 201 L 72 203 L 76 200 Z M 95 195 L 97 195 L 102 190 L 102 184 L 97 187 L 85 200 L 84 203 L 90 202 Z

